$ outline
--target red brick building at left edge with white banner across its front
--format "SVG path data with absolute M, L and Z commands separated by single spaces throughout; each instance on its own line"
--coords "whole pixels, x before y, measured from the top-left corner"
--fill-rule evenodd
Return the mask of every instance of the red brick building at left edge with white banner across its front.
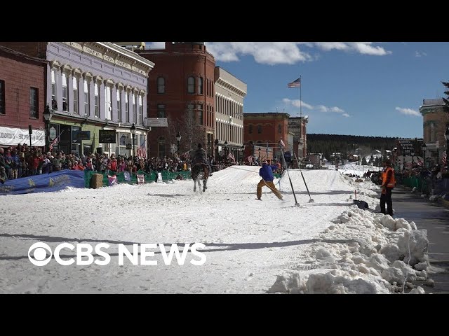
M 45 59 L 0 46 L 0 146 L 45 146 Z

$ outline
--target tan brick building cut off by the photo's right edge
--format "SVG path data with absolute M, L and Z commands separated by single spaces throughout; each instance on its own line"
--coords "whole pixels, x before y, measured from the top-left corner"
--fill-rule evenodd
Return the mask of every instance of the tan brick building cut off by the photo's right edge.
M 444 111 L 443 99 L 423 99 L 422 114 L 427 166 L 441 164 L 443 152 L 448 151 L 444 137 L 449 127 L 449 113 Z

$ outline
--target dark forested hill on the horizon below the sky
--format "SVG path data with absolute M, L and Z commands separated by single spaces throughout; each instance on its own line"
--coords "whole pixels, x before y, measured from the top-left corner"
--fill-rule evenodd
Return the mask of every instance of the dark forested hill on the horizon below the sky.
M 356 153 L 363 156 L 373 151 L 391 151 L 396 147 L 396 139 L 392 137 L 363 137 L 360 135 L 339 134 L 307 134 L 307 153 L 323 153 L 329 160 L 332 153 Z M 357 151 L 358 150 L 358 151 Z

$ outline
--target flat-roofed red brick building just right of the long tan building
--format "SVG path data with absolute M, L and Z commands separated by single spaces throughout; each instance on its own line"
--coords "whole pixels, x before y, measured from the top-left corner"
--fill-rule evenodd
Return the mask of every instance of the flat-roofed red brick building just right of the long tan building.
M 285 151 L 293 151 L 293 144 L 288 142 L 288 113 L 244 113 L 243 116 L 243 140 L 245 158 L 250 155 L 258 157 L 259 147 L 273 148 L 273 155 L 280 157 L 279 140 L 286 145 Z M 263 158 L 263 149 L 260 155 Z M 267 151 L 268 157 L 269 151 Z M 265 154 L 266 155 L 266 154 Z

